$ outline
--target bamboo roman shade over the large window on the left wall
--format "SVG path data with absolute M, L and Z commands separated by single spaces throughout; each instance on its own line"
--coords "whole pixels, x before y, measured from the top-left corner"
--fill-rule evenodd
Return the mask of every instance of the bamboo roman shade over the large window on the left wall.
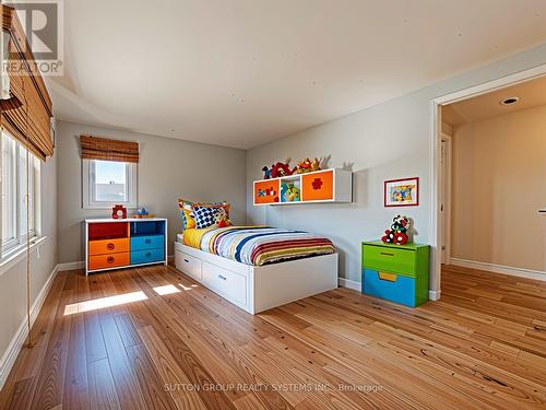
M 13 9 L 2 8 L 2 30 L 10 36 L 10 99 L 0 105 L 1 125 L 8 133 L 45 161 L 54 154 L 51 133 L 52 105 L 41 75 L 31 70 L 31 47 Z M 19 67 L 14 70 L 13 67 Z

